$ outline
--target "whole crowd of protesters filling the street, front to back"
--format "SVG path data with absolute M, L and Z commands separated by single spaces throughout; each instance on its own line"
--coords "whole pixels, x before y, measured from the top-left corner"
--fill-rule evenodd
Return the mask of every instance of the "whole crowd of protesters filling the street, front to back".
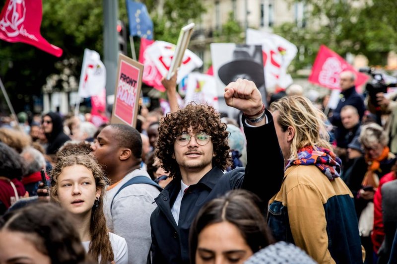
M 179 108 L 174 75 L 171 112 L 136 128 L 2 118 L 0 263 L 393 263 L 397 96 L 354 82 L 328 116 L 297 85 L 265 107 L 243 79 L 224 93 L 239 119 Z

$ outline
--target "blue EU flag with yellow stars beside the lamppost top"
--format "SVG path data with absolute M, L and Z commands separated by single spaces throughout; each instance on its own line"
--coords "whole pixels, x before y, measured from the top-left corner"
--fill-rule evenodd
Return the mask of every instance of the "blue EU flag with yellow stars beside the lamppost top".
M 147 12 L 146 5 L 132 0 L 126 0 L 130 35 L 145 39 L 153 39 L 153 22 Z

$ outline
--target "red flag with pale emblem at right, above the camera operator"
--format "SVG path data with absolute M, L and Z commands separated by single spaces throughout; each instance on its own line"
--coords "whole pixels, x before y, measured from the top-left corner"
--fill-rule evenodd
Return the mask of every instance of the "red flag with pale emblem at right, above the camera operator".
M 368 80 L 367 75 L 358 72 L 337 53 L 321 45 L 312 68 L 312 73 L 309 76 L 309 81 L 330 89 L 340 89 L 339 74 L 346 70 L 356 74 L 356 86 L 360 86 Z

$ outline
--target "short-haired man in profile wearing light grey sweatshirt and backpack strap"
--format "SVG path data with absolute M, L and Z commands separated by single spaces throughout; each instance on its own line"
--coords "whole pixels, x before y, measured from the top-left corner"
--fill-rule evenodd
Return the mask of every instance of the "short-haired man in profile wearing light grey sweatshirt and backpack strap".
M 128 263 L 146 264 L 150 250 L 150 214 L 159 191 L 150 184 L 122 186 L 129 180 L 149 175 L 141 168 L 142 139 L 139 132 L 124 124 L 111 124 L 98 134 L 92 152 L 110 180 L 104 199 L 106 224 L 124 237 L 128 246 Z M 119 190 L 120 193 L 119 193 Z

